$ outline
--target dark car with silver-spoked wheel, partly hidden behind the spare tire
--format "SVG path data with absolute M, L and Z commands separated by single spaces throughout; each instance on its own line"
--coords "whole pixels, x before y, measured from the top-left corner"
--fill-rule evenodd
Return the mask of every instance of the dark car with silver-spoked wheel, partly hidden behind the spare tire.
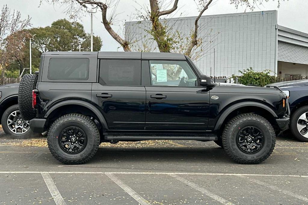
M 15 139 L 23 138 L 30 131 L 29 122 L 23 120 L 18 107 L 19 83 L 0 86 L 0 119 L 3 131 Z

